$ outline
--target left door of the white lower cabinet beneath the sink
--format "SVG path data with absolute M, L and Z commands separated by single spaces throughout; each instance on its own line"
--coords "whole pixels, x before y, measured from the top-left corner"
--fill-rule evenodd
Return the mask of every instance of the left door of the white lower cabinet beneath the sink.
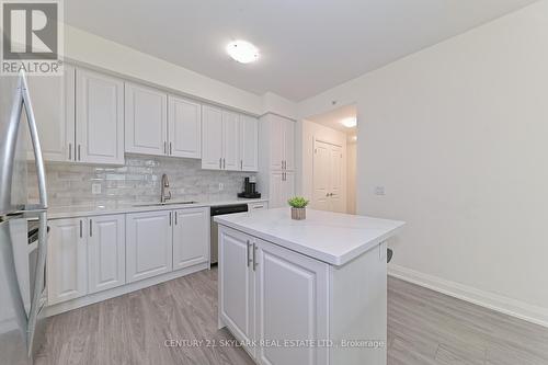
M 172 270 L 172 213 L 134 213 L 126 216 L 126 280 L 128 283 Z

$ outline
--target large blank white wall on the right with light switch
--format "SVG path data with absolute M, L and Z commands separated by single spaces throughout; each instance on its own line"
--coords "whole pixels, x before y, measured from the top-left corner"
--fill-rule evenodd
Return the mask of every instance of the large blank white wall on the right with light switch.
M 358 105 L 358 212 L 392 273 L 548 326 L 548 1 L 299 105 Z M 375 186 L 386 195 L 374 195 Z

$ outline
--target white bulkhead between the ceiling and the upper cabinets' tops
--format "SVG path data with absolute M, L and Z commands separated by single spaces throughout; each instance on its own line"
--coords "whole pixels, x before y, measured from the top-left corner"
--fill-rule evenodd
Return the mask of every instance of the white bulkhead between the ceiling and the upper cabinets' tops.
M 279 95 L 256 95 L 70 25 L 65 57 L 243 112 L 296 117 L 296 104 Z

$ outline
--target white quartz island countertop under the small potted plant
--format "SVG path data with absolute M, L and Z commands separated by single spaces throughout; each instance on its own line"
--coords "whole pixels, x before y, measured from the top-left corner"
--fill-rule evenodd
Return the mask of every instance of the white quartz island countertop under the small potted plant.
M 293 220 L 288 207 L 217 216 L 215 221 L 335 266 L 378 246 L 404 225 L 313 209 L 307 209 L 307 219 Z

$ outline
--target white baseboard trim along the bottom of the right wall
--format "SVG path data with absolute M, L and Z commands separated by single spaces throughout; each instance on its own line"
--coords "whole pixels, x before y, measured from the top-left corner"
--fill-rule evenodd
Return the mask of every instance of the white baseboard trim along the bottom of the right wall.
M 442 294 L 548 328 L 548 309 L 480 290 L 411 269 L 388 265 L 388 275 Z

